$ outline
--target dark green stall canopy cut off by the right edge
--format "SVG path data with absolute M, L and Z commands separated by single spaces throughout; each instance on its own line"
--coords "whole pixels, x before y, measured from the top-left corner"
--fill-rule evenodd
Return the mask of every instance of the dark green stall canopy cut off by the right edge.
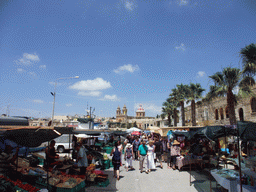
M 243 141 L 256 141 L 256 123 L 249 121 L 238 121 L 240 139 Z

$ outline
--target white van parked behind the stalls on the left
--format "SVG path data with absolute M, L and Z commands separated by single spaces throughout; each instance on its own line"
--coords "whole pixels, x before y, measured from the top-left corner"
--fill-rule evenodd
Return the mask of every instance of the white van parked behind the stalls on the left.
M 55 149 L 59 153 L 63 153 L 65 150 L 72 149 L 72 135 L 63 134 L 63 135 L 61 135 L 60 137 L 57 137 L 54 140 L 56 141 Z

